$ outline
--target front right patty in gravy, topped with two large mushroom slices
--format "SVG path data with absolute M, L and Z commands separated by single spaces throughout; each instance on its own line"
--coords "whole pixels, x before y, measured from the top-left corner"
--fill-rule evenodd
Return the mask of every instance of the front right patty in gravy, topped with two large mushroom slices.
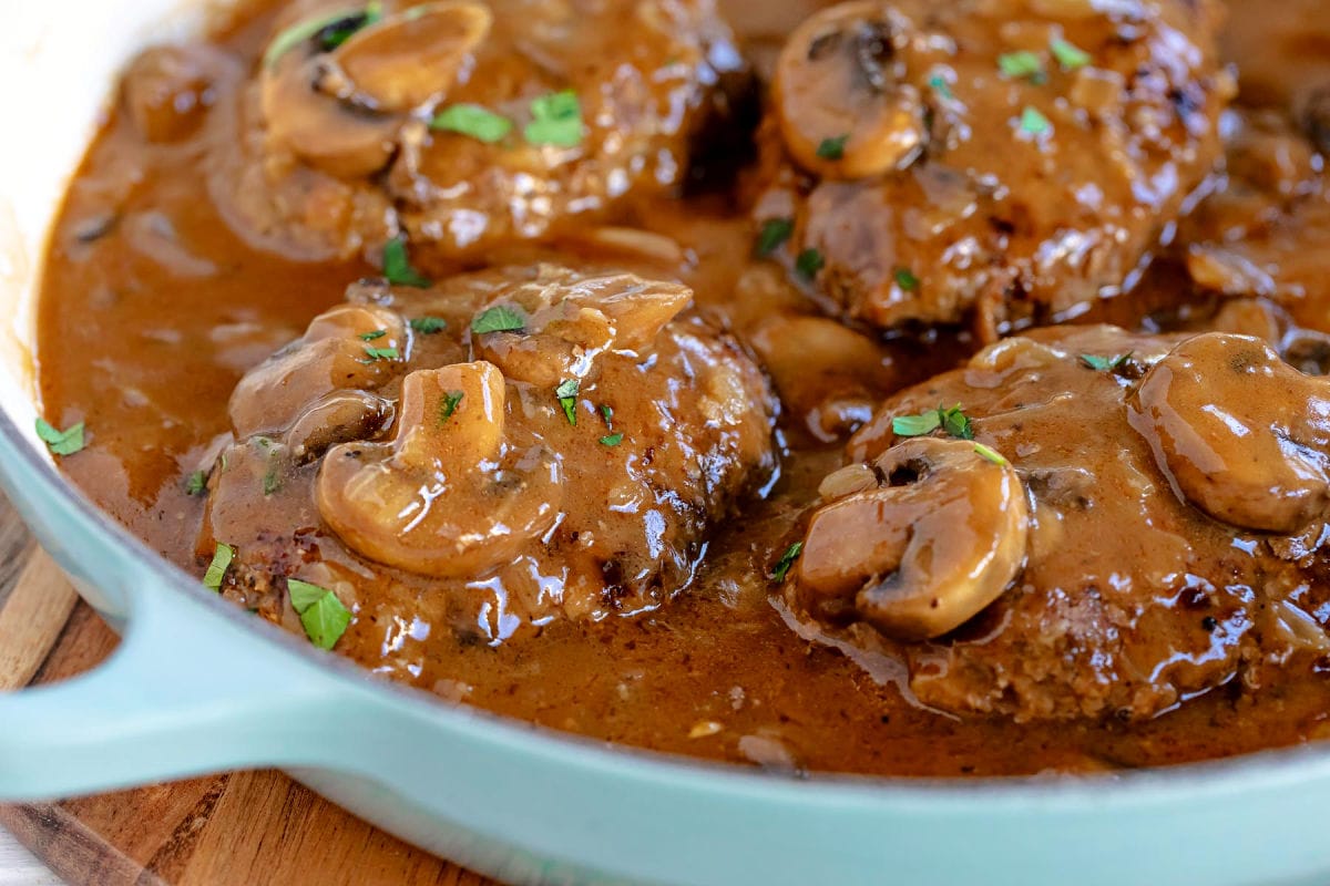
M 956 713 L 1148 717 L 1258 684 L 1330 650 L 1327 414 L 1330 383 L 1256 337 L 1008 339 L 851 440 L 787 596 Z

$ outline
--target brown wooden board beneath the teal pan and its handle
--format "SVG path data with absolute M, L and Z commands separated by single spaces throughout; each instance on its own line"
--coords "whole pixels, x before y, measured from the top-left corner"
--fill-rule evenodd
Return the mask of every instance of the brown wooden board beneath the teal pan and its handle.
M 0 689 L 69 677 L 114 648 L 0 497 Z M 70 886 L 493 886 L 271 770 L 0 805 L 0 825 Z

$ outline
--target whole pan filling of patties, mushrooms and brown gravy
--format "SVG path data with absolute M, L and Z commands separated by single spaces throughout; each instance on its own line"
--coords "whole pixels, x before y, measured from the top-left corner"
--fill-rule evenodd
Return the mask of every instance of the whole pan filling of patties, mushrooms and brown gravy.
M 40 432 L 210 591 L 556 729 L 910 776 L 1321 739 L 1311 5 L 250 4 L 126 68 Z

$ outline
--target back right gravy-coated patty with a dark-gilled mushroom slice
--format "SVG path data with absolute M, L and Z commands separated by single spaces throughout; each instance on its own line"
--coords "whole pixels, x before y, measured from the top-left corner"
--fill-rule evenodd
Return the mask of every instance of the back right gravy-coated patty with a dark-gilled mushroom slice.
M 866 0 L 786 44 L 763 224 L 829 307 L 992 336 L 1130 286 L 1220 157 L 1208 0 Z

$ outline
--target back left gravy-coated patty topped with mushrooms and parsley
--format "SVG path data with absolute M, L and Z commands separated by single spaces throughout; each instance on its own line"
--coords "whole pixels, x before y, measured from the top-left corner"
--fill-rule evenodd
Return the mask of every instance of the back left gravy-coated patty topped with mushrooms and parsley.
M 214 114 L 209 186 L 249 242 L 322 260 L 404 232 L 473 262 L 682 185 L 747 82 L 710 0 L 382 5 L 293 3 Z

